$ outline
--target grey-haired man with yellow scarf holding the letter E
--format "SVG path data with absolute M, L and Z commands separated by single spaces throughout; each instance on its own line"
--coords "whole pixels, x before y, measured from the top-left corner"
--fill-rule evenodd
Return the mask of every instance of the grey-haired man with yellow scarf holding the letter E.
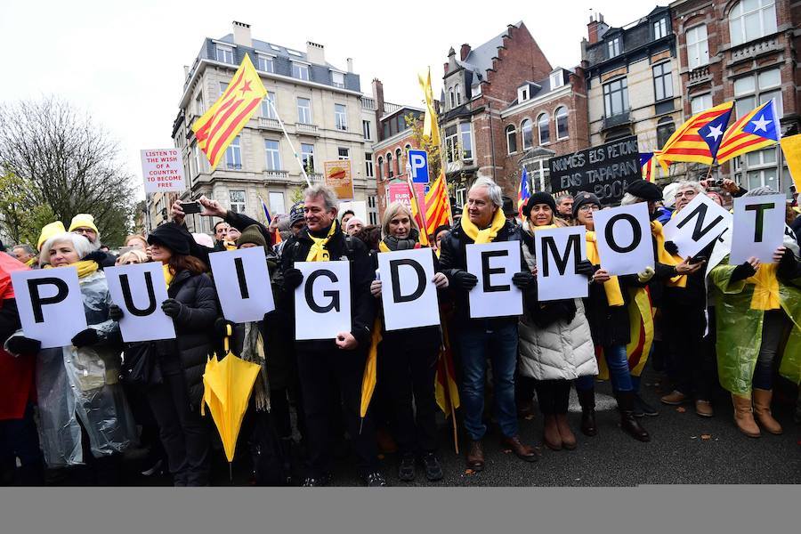
M 479 178 L 467 192 L 467 213 L 462 215 L 449 236 L 441 242 L 441 270 L 456 293 L 455 337 L 460 347 L 463 368 L 461 399 L 465 408 L 465 430 L 470 438 L 466 462 L 467 467 L 475 471 L 484 468 L 482 440 L 487 426 L 484 425 L 482 416 L 487 358 L 492 359 L 495 414 L 503 434 L 503 445 L 512 449 L 523 460 L 537 460 L 535 450 L 522 443 L 518 435 L 517 409 L 514 403 L 518 318 L 516 315 L 489 319 L 470 318 L 468 295 L 478 284 L 478 278 L 467 271 L 465 247 L 473 243 L 520 242 L 514 225 L 506 221 L 502 206 L 503 198 L 498 184 L 489 178 Z M 514 274 L 512 281 L 515 286 L 528 293 L 534 288 L 534 278 L 526 268 L 522 251 L 520 257 L 520 272 Z

